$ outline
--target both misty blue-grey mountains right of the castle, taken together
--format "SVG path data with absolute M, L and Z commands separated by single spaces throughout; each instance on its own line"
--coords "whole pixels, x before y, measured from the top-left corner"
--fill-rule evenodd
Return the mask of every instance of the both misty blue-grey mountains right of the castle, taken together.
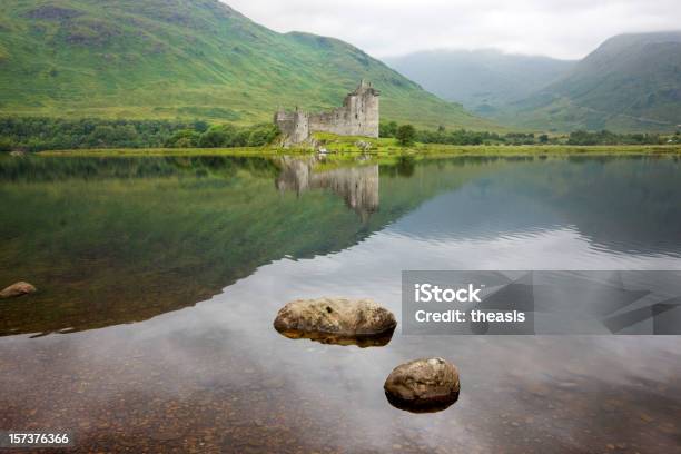
M 681 31 L 616 36 L 574 62 L 481 50 L 418 52 L 388 63 L 516 128 L 671 131 L 681 124 Z

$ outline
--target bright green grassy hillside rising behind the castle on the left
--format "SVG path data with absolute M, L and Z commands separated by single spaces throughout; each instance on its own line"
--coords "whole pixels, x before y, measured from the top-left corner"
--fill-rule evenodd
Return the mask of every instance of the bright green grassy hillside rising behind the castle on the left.
M 0 115 L 269 120 L 366 78 L 383 118 L 490 128 L 343 41 L 277 33 L 217 0 L 3 0 Z

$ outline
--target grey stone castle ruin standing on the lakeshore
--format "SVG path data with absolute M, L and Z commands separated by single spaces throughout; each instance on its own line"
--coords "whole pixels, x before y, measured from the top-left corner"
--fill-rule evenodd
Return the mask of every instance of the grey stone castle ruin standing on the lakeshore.
M 378 137 L 378 96 L 371 83 L 362 80 L 355 91 L 345 97 L 343 107 L 310 114 L 279 109 L 274 121 L 289 144 L 300 144 L 313 132 L 333 132 L 338 136 Z

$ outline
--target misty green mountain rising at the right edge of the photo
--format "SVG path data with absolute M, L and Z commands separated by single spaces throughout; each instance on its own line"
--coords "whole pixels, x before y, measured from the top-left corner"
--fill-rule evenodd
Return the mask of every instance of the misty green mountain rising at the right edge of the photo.
M 681 124 L 681 32 L 611 38 L 505 119 L 557 130 L 673 130 Z

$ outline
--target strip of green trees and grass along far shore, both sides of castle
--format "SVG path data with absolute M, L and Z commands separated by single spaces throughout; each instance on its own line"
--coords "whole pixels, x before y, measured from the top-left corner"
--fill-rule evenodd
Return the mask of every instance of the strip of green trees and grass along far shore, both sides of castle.
M 468 129 L 416 129 L 395 121 L 381 124 L 375 147 L 414 144 L 451 146 L 662 146 L 681 145 L 675 134 L 618 134 L 573 131 L 564 135 L 496 132 Z M 276 145 L 279 130 L 273 124 L 210 125 L 204 120 L 0 118 L 0 151 L 45 151 L 114 148 L 243 148 Z M 326 138 L 328 139 L 328 138 Z M 383 140 L 387 139 L 387 140 Z M 347 140 L 340 140 L 346 142 Z M 314 145 L 314 144 L 312 144 Z M 347 147 L 352 148 L 352 147 Z M 353 149 L 347 149 L 353 151 Z

